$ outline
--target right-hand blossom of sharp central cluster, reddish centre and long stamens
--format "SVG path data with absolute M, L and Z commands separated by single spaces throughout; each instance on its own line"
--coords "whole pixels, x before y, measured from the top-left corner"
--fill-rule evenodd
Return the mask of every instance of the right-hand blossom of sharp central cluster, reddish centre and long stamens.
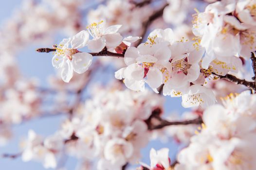
M 190 83 L 196 81 L 200 75 L 199 62 L 204 49 L 195 45 L 196 42 L 175 42 L 170 49 L 172 56 L 171 70 L 163 70 L 164 95 L 173 95 L 172 90 L 185 92 Z

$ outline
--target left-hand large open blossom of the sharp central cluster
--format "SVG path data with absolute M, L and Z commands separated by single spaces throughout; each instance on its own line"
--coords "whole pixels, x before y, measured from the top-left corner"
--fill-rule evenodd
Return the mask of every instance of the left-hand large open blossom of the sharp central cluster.
M 152 39 L 151 44 L 129 48 L 125 53 L 125 63 L 128 67 L 116 71 L 115 77 L 124 78 L 125 85 L 132 90 L 143 91 L 145 82 L 151 88 L 159 87 L 163 81 L 161 68 L 168 64 L 171 56 L 167 45 L 168 42 L 156 43 Z

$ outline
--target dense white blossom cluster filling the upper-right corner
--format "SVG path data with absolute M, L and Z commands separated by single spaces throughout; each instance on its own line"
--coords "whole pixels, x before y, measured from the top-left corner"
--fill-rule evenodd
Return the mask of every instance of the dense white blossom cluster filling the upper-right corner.
M 200 45 L 206 51 L 203 68 L 220 62 L 236 65 L 238 57 L 248 59 L 256 50 L 254 0 L 222 0 L 209 4 L 204 12 L 194 16 L 193 22 L 193 33 L 201 39 Z

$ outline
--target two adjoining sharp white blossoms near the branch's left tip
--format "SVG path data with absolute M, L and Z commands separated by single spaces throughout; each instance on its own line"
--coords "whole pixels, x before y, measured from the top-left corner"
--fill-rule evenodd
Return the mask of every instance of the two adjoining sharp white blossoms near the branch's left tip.
M 73 77 L 73 71 L 78 74 L 88 70 L 92 63 L 92 53 L 81 52 L 78 49 L 88 46 L 92 52 L 100 52 L 105 47 L 111 51 L 115 50 L 123 41 L 135 42 L 140 37 L 123 38 L 118 33 L 121 25 L 112 25 L 104 28 L 103 21 L 92 23 L 87 27 L 88 31 L 81 31 L 73 37 L 63 39 L 55 46 L 55 56 L 52 64 L 55 68 L 61 69 L 61 77 L 64 82 L 69 82 Z M 89 39 L 91 34 L 92 39 Z M 99 54 L 100 55 L 100 54 Z

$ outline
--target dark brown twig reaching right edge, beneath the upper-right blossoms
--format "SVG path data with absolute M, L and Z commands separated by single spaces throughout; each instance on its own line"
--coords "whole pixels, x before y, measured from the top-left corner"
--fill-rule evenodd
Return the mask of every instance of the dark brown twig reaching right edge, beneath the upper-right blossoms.
M 231 74 L 226 74 L 224 76 L 216 74 L 214 72 L 212 72 L 212 74 L 218 76 L 220 79 L 225 79 L 225 80 L 228 80 L 230 82 L 234 82 L 237 85 L 245 85 L 246 87 L 249 87 L 253 90 L 256 90 L 255 82 L 248 82 L 244 79 L 238 79 L 236 76 L 233 76 Z

